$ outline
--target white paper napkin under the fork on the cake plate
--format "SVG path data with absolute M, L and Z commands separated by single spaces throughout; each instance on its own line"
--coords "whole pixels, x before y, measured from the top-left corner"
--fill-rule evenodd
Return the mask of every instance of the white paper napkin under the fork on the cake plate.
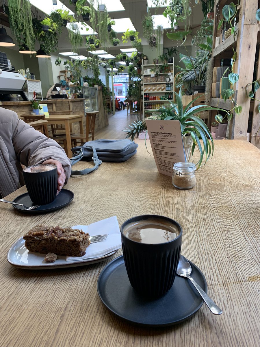
M 66 261 L 84 260 L 101 257 L 121 248 L 121 235 L 116 216 L 100 220 L 90 225 L 75 225 L 73 229 L 82 229 L 90 236 L 108 234 L 105 241 L 90 244 L 82 257 L 67 256 Z

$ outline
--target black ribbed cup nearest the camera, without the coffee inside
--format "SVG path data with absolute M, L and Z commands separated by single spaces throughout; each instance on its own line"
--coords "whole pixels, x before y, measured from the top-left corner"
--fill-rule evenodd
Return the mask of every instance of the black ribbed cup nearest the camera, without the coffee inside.
M 129 239 L 124 229 L 129 223 L 158 219 L 175 225 L 179 235 L 168 242 L 147 244 Z M 173 285 L 181 254 L 182 227 L 175 220 L 159 215 L 140 215 L 128 219 L 120 228 L 124 263 L 131 286 L 141 295 L 156 298 Z

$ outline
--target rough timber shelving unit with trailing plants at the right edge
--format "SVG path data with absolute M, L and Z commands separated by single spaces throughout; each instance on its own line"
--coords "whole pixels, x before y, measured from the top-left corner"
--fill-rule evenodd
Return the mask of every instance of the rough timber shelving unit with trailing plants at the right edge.
M 222 59 L 230 59 L 233 56 L 233 47 L 236 51 L 236 63 L 234 72 L 239 74 L 239 81 L 234 85 L 233 98 L 238 105 L 242 106 L 240 115 L 233 113 L 232 121 L 229 127 L 230 139 L 247 139 L 247 129 L 250 111 L 250 99 L 246 97 L 245 86 L 253 81 L 253 71 L 255 66 L 255 52 L 257 44 L 260 42 L 259 29 L 260 25 L 255 17 L 259 8 L 258 0 L 240 0 L 240 7 L 237 13 L 236 25 L 238 32 L 236 36 L 229 36 L 222 41 L 222 29 L 217 29 L 219 20 L 223 18 L 222 9 L 225 5 L 236 1 L 233 0 L 215 0 L 214 8 L 214 34 L 213 34 L 213 57 L 214 67 L 221 66 Z M 220 36 L 220 44 L 216 46 L 216 37 Z M 260 59 L 259 59 L 260 62 Z M 225 63 L 226 64 L 226 63 Z M 225 66 L 225 65 L 224 65 Z M 259 66 L 259 64 L 258 64 Z M 259 69 L 258 69 L 259 70 Z M 258 71 L 260 78 L 260 71 Z M 260 91 L 257 92 L 260 98 Z M 255 102 L 253 127 L 259 128 L 260 115 L 257 110 L 259 102 Z M 231 100 L 224 102 L 223 99 L 211 98 L 210 105 L 220 107 L 225 110 L 231 110 L 234 104 Z M 211 122 L 215 119 L 215 112 L 211 112 Z M 252 127 L 252 135 L 253 129 Z M 256 129 L 257 131 L 257 129 Z M 257 139 L 258 140 L 258 139 Z M 257 141 L 254 141 L 255 143 Z M 253 141 L 252 141 L 253 143 Z M 255 144 L 254 143 L 254 144 Z

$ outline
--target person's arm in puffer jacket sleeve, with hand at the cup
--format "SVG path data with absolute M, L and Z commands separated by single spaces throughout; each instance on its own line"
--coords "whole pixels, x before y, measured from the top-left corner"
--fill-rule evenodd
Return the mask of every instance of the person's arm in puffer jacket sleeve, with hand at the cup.
M 56 141 L 18 119 L 15 112 L 12 117 L 12 130 L 12 142 L 17 158 L 22 164 L 29 166 L 41 164 L 48 159 L 58 160 L 64 169 L 67 183 L 71 174 L 71 161 Z

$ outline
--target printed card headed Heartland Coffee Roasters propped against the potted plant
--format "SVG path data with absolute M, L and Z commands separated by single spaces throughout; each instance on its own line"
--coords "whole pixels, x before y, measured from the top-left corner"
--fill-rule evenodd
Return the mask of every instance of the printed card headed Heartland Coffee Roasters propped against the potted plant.
M 158 171 L 172 176 L 173 164 L 186 161 L 180 121 L 147 119 L 146 126 Z

